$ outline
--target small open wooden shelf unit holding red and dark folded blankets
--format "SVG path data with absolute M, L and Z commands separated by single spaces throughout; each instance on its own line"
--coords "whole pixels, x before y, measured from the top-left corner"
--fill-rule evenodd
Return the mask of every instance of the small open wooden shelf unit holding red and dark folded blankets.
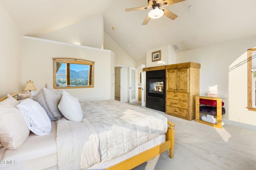
M 200 99 L 208 99 L 216 101 L 216 115 L 210 113 L 200 112 Z M 205 105 L 204 105 L 205 106 Z M 216 119 L 216 123 L 210 123 L 202 120 L 203 116 L 212 115 Z M 217 128 L 222 128 L 222 98 L 219 97 L 206 97 L 206 96 L 196 96 L 196 122 L 203 123 L 205 125 L 210 125 Z

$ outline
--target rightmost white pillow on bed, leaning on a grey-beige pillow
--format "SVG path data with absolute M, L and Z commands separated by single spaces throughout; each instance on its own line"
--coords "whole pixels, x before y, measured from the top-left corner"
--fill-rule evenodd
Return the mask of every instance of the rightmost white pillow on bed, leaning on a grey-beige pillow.
M 82 122 L 83 112 L 76 97 L 62 93 L 58 108 L 66 119 L 74 122 Z

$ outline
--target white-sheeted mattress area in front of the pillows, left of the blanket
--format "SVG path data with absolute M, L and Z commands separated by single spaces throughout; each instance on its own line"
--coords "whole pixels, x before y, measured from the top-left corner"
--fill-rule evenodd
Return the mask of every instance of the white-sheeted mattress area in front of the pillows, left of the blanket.
M 36 170 L 57 167 L 56 123 L 50 134 L 37 136 L 30 132 L 28 139 L 15 150 L 0 151 L 0 170 Z M 5 164 L 12 160 L 13 164 Z M 15 164 L 16 163 L 16 164 Z

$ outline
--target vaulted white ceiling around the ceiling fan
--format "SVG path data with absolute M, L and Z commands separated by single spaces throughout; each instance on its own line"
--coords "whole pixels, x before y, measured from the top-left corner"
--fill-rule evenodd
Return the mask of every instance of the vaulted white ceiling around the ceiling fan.
M 151 19 L 147 0 L 1 0 L 23 35 L 40 36 L 96 15 L 104 16 L 104 31 L 135 61 L 146 51 L 170 44 L 176 52 L 256 36 L 256 0 L 186 0 L 166 6 L 178 18 Z M 192 10 L 189 6 L 193 6 Z M 114 30 L 112 29 L 114 28 Z M 130 47 L 126 45 L 129 44 Z M 207 56 L 206 56 L 207 57 Z

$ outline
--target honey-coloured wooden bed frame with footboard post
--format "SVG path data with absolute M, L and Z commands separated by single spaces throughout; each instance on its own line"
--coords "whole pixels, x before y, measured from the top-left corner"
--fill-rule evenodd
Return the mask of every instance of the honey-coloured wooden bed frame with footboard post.
M 14 93 L 11 96 L 14 97 L 18 95 L 18 93 Z M 0 101 L 3 101 L 7 99 L 7 96 L 0 99 Z M 132 169 L 136 166 L 146 162 L 147 160 L 150 160 L 151 158 L 154 158 L 155 156 L 161 154 L 162 152 L 165 152 L 166 150 L 170 150 L 170 158 L 173 158 L 173 150 L 174 150 L 174 124 L 168 121 L 168 127 L 167 132 L 165 133 L 166 141 L 154 146 L 153 148 L 150 148 L 149 150 L 146 150 L 140 154 L 137 154 L 127 160 L 124 160 L 114 166 L 111 166 L 109 168 L 106 168 L 106 170 L 124 170 L 124 169 Z

